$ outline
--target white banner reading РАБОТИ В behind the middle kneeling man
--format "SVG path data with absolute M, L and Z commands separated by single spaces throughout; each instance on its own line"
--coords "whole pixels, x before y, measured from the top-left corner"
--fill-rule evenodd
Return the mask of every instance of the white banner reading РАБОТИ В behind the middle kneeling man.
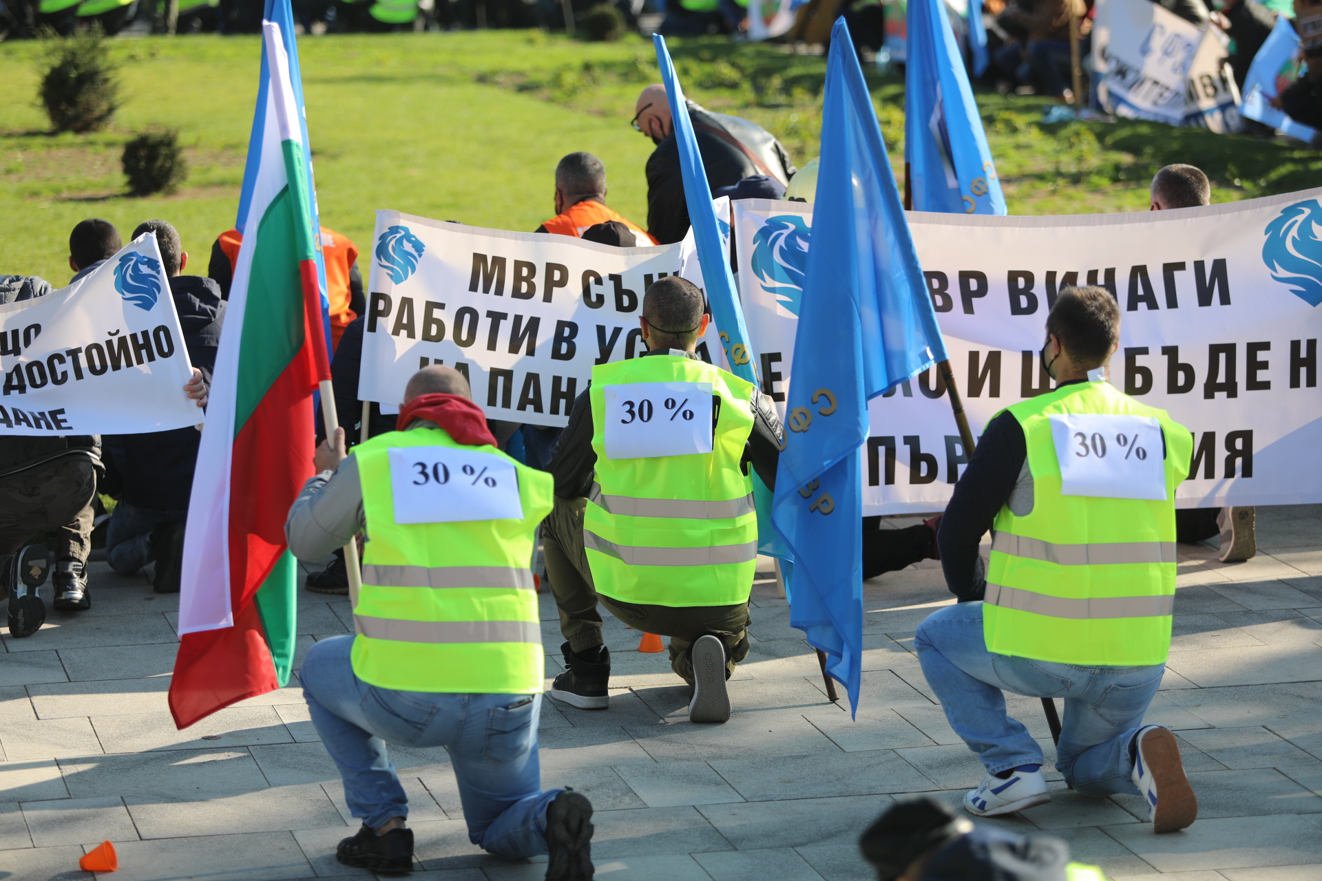
M 642 295 L 683 244 L 616 248 L 377 211 L 358 396 L 398 404 L 431 363 L 464 372 L 488 419 L 563 427 L 592 366 L 646 351 Z M 683 272 L 698 283 L 701 275 Z M 698 353 L 723 365 L 715 326 Z

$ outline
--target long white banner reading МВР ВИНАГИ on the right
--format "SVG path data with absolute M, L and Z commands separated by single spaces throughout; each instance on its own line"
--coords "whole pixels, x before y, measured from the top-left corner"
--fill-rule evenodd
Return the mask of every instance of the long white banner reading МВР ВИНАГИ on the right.
M 1322 502 L 1317 338 L 1322 189 L 1161 213 L 910 213 L 973 433 L 1050 387 L 1050 304 L 1103 284 L 1121 312 L 1110 380 L 1194 433 L 1178 507 Z M 812 205 L 735 205 L 740 291 L 763 387 L 784 407 Z M 929 370 L 871 402 L 865 514 L 939 511 L 965 456 Z

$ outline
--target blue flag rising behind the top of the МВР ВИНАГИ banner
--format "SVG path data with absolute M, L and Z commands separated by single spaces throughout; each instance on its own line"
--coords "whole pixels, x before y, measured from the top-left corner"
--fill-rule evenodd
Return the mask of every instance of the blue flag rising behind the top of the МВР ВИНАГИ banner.
M 970 32 L 974 16 L 969 7 Z M 910 0 L 904 67 L 904 161 L 914 210 L 1005 214 L 969 74 L 944 0 Z

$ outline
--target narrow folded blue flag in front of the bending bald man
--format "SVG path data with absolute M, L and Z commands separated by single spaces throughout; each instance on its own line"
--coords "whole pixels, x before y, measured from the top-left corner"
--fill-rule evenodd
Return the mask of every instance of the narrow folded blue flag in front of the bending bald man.
M 661 82 L 665 85 L 666 99 L 670 102 L 670 122 L 674 125 L 674 140 L 680 147 L 680 168 L 683 173 L 683 198 L 689 203 L 689 223 L 693 225 L 693 238 L 698 246 L 698 263 L 702 264 L 702 283 L 706 285 L 711 317 L 720 330 L 726 343 L 726 361 L 730 372 L 758 382 L 752 369 L 752 349 L 748 346 L 748 328 L 744 325 L 743 309 L 735 295 L 735 279 L 730 275 L 730 263 L 720 247 L 720 230 L 717 227 L 717 210 L 711 206 L 711 190 L 707 188 L 707 172 L 698 152 L 698 139 L 693 135 L 693 120 L 680 88 L 680 78 L 674 75 L 670 53 L 665 48 L 665 37 L 653 34 L 657 49 L 657 66 L 661 69 Z

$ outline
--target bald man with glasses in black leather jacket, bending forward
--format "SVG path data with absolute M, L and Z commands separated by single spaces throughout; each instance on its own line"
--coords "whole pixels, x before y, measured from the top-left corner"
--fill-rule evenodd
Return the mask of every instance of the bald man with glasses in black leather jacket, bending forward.
M 731 186 L 746 177 L 764 176 L 789 185 L 798 169 L 776 136 L 739 116 L 713 114 L 691 100 L 685 104 L 702 153 L 709 192 Z M 689 231 L 689 207 L 680 170 L 680 144 L 665 86 L 648 86 L 633 106 L 633 128 L 650 137 L 657 148 L 648 157 L 648 232 L 661 244 L 683 239 Z

